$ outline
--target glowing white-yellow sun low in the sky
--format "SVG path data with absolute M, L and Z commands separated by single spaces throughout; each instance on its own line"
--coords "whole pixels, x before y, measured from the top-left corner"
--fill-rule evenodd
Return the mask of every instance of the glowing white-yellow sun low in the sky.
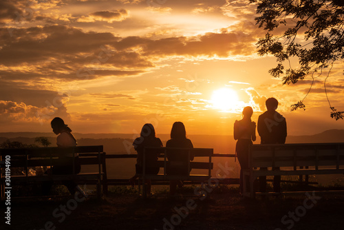
M 237 92 L 228 88 L 221 88 L 213 92 L 211 97 L 213 107 L 221 109 L 222 111 L 228 111 L 234 109 L 239 103 Z

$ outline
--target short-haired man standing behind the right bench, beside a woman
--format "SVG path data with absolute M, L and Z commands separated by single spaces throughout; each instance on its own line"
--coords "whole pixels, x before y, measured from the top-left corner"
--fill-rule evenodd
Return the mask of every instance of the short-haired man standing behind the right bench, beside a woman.
M 268 98 L 265 102 L 268 111 L 261 114 L 258 118 L 257 130 L 261 137 L 261 144 L 284 144 L 287 137 L 286 118 L 276 112 L 278 107 L 276 98 Z M 267 168 L 262 167 L 261 170 Z M 279 170 L 279 167 L 273 167 L 272 170 Z M 259 176 L 260 191 L 266 191 L 266 176 Z M 281 176 L 274 176 L 274 191 L 281 190 Z

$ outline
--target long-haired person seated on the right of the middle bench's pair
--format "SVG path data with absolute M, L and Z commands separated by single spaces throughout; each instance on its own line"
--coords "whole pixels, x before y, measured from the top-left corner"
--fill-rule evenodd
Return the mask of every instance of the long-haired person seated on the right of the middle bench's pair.
M 186 138 L 186 130 L 182 122 L 177 121 L 173 123 L 171 129 L 171 139 L 167 140 L 166 147 L 193 148 L 193 143 L 191 140 Z M 190 171 L 188 171 L 188 163 L 189 160 L 193 160 L 193 154 L 190 154 L 189 156 L 189 151 L 182 149 L 169 149 L 166 154 L 166 157 L 169 160 L 169 163 L 166 167 L 166 174 L 188 175 L 190 173 Z M 182 181 L 170 180 L 170 195 L 175 194 L 177 185 L 182 186 Z

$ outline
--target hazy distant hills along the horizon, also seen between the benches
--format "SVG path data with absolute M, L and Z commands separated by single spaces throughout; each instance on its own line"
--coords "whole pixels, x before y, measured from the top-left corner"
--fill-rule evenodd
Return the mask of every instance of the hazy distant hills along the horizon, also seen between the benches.
M 11 141 L 19 141 L 24 144 L 34 144 L 34 138 L 37 136 L 46 136 L 51 146 L 56 146 L 56 135 L 53 133 L 34 133 L 34 132 L 18 132 L 18 133 L 0 133 L 0 143 L 10 139 Z M 74 133 L 78 145 L 103 145 L 104 151 L 107 154 L 136 154 L 132 147 L 133 139 L 137 134 L 78 134 Z M 157 134 L 162 140 L 163 145 L 169 140 L 169 134 Z M 194 147 L 208 147 L 213 148 L 215 154 L 235 154 L 235 143 L 233 136 L 220 135 L 188 135 L 192 140 Z M 331 129 L 320 134 L 309 136 L 288 136 L 287 143 L 338 143 L 344 142 L 343 129 Z M 260 138 L 257 136 L 255 144 L 260 143 Z M 36 143 L 37 144 L 37 143 Z M 230 178 L 237 178 L 239 176 L 239 163 L 235 162 L 234 158 L 212 158 L 214 163 L 213 174 L 217 171 L 218 165 L 224 165 L 228 162 L 229 167 L 233 167 L 230 171 Z M 109 178 L 129 178 L 135 174 L 134 158 L 125 159 L 109 159 L 107 160 L 107 170 Z M 215 175 L 213 175 L 215 176 Z M 319 182 L 325 185 L 326 182 L 332 182 L 337 178 L 330 178 L 326 176 L 321 178 L 317 176 Z

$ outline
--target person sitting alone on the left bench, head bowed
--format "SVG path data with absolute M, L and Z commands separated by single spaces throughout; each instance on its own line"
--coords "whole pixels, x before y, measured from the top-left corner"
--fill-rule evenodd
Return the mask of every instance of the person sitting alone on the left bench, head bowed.
M 76 139 L 72 134 L 72 129 L 70 129 L 63 119 L 56 117 L 52 119 L 52 132 L 58 135 L 56 138 L 56 144 L 58 147 L 74 147 L 76 146 Z M 74 159 L 73 159 L 74 157 Z M 73 163 L 74 162 L 74 163 Z M 58 160 L 56 164 L 52 166 L 51 169 L 47 170 L 47 174 L 56 174 L 56 175 L 63 175 L 63 174 L 78 174 L 80 172 L 80 161 L 78 158 L 78 154 L 66 154 L 64 156 L 58 156 Z M 77 190 L 76 182 L 73 180 L 64 180 L 63 185 L 65 185 L 70 192 L 70 194 L 74 195 Z M 52 182 L 44 182 L 43 183 L 43 195 L 48 195 L 50 193 L 50 189 L 52 187 Z

